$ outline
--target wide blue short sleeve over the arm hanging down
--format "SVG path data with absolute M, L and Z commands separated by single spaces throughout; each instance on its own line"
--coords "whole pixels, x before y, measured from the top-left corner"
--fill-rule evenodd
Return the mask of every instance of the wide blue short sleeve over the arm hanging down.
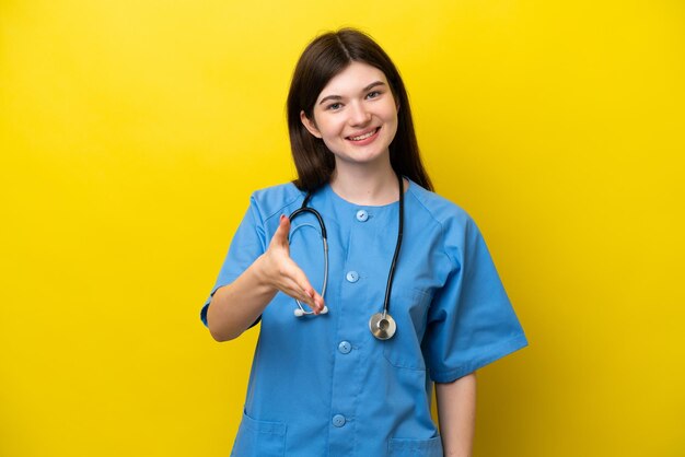
M 527 345 L 480 231 L 445 226 L 452 270 L 428 312 L 423 353 L 431 379 L 450 383 Z

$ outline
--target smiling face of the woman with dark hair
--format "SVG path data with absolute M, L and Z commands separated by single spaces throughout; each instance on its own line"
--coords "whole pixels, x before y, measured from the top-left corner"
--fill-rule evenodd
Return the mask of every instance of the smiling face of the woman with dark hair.
M 321 91 L 313 119 L 304 112 L 300 118 L 335 154 L 336 163 L 390 161 L 397 106 L 385 74 L 375 67 L 350 63 Z

